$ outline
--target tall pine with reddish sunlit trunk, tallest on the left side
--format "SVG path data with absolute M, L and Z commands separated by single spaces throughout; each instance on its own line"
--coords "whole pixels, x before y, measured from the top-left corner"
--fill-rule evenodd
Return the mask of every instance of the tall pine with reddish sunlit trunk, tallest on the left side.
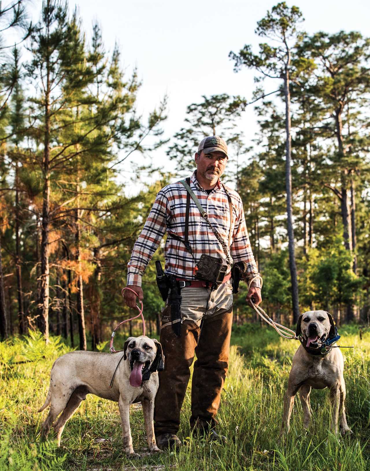
M 49 309 L 49 244 L 55 200 L 51 199 L 51 183 L 56 179 L 61 166 L 69 160 L 65 152 L 76 142 L 60 142 L 58 131 L 60 120 L 73 100 L 81 99 L 81 89 L 91 81 L 91 73 L 86 66 L 84 40 L 78 20 L 74 14 L 68 19 L 65 3 L 53 0 L 43 2 L 40 24 L 32 34 L 32 62 L 28 66 L 30 78 L 34 80 L 39 95 L 35 103 L 35 124 L 29 134 L 35 136 L 34 159 L 40 165 L 43 179 L 43 205 L 41 218 L 40 247 L 40 294 L 38 314 L 40 328 L 48 340 Z M 70 93 L 64 92 L 65 87 Z M 43 150 L 39 152 L 39 142 Z

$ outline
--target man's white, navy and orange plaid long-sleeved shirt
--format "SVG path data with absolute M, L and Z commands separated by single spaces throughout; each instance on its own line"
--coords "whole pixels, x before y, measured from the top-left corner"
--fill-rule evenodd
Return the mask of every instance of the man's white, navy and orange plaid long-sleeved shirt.
M 207 211 L 208 218 L 217 233 L 224 240 L 226 246 L 229 243 L 230 231 L 230 207 L 227 194 L 220 180 L 216 187 L 208 194 L 198 183 L 196 171 L 190 181 L 190 187 L 198 198 L 201 206 Z M 229 256 L 234 262 L 245 261 L 248 263 L 246 279 L 259 275 L 256 262 L 249 243 L 249 235 L 245 224 L 243 203 L 236 191 L 227 188 L 233 206 L 233 221 L 231 225 L 232 236 L 229 248 Z M 153 208 L 141 234 L 139 235 L 132 250 L 131 259 L 128 263 L 127 284 L 141 286 L 141 278 L 145 268 L 165 232 L 167 240 L 164 246 L 166 260 L 165 272 L 180 278 L 193 280 L 194 260 L 185 245 L 170 237 L 176 234 L 182 239 L 185 237 L 185 210 L 187 191 L 180 182 L 171 183 L 162 188 L 158 193 Z M 213 257 L 221 257 L 226 263 L 226 257 L 212 229 L 202 218 L 199 209 L 190 198 L 189 213 L 189 243 L 193 250 L 195 260 L 199 260 L 203 253 Z M 231 267 L 227 268 L 229 271 Z M 253 283 L 259 286 L 259 280 Z

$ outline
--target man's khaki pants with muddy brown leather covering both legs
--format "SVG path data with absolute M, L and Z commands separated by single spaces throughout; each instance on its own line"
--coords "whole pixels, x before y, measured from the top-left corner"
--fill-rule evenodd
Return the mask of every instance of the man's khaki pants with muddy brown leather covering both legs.
M 181 290 L 183 325 L 177 338 L 171 325 L 161 330 L 161 345 L 165 355 L 164 371 L 159 373 L 159 389 L 155 397 L 154 430 L 176 434 L 180 425 L 180 410 L 190 378 L 194 352 L 192 381 L 192 415 L 190 426 L 212 429 L 229 361 L 230 335 L 233 322 L 231 285 L 220 285 L 210 293 L 206 288 Z M 209 297 L 209 309 L 206 310 Z M 163 311 L 162 324 L 170 320 L 169 306 Z

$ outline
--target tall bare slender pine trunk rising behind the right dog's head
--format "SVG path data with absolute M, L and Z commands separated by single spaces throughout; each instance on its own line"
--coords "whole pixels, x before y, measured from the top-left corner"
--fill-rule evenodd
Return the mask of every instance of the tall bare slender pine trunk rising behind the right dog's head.
M 286 130 L 286 160 L 285 160 L 285 187 L 287 192 L 287 223 L 288 223 L 288 240 L 289 240 L 289 266 L 290 280 L 292 286 L 292 304 L 293 304 L 293 322 L 296 323 L 299 317 L 298 305 L 298 280 L 297 268 L 294 251 L 294 233 L 293 233 L 293 211 L 292 211 L 292 181 L 291 181 L 291 134 L 290 134 L 290 86 L 288 65 L 285 67 L 284 73 L 284 95 L 285 95 L 285 130 Z

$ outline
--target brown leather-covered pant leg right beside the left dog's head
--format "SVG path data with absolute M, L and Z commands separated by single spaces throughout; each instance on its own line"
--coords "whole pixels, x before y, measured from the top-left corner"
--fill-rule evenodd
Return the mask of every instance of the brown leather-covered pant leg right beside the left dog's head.
M 165 311 L 169 309 L 166 308 Z M 163 312 L 163 315 L 168 314 Z M 164 317 L 164 316 L 163 316 Z M 160 342 L 165 355 L 164 371 L 159 372 L 159 388 L 154 401 L 155 435 L 177 434 L 180 426 L 180 410 L 184 401 L 190 366 L 200 328 L 193 321 L 185 320 L 181 337 L 177 338 L 171 325 L 161 330 Z

